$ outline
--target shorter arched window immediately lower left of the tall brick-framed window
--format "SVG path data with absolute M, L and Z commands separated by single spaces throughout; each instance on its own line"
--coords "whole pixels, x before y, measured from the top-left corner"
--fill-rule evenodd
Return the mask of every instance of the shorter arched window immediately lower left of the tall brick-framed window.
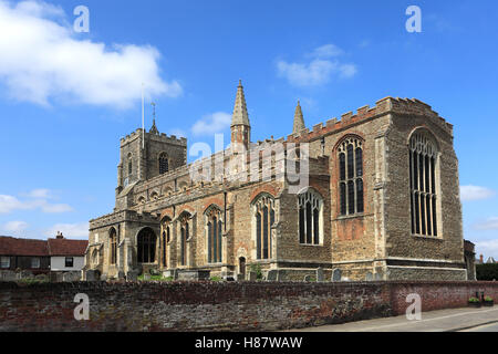
M 322 226 L 322 197 L 312 189 L 298 197 L 299 207 L 299 243 L 320 244 Z

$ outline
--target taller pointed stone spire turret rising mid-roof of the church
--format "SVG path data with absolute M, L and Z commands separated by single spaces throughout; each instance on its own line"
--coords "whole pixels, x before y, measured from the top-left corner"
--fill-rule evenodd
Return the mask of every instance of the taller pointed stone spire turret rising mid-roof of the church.
M 247 113 L 243 86 L 240 80 L 239 86 L 237 87 L 237 96 L 234 107 L 234 115 L 231 117 L 230 131 L 232 146 L 245 146 L 246 150 L 249 149 L 251 142 L 251 125 L 249 123 L 249 114 Z

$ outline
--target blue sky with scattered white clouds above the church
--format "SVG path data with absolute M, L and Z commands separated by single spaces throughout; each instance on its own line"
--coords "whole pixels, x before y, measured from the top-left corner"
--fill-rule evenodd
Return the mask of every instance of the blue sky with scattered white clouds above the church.
M 84 238 L 112 211 L 142 82 L 160 132 L 212 145 L 241 79 L 253 140 L 287 136 L 298 100 L 309 127 L 385 96 L 430 104 L 455 125 L 465 238 L 498 259 L 497 43 L 496 1 L 0 0 L 0 235 Z

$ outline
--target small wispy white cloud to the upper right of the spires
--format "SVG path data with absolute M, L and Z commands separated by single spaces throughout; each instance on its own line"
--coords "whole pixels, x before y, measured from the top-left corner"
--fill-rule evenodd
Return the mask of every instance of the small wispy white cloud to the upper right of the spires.
M 295 86 L 319 86 L 330 82 L 333 76 L 349 79 L 356 74 L 356 65 L 343 63 L 335 56 L 343 52 L 333 44 L 317 48 L 307 54 L 313 58 L 309 63 L 277 62 L 278 74 Z M 332 59 L 334 58 L 334 59 Z

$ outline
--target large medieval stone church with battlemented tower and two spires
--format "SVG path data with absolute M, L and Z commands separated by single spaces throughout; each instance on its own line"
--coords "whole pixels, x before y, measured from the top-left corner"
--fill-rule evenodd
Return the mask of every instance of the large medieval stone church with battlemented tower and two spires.
M 159 133 L 155 119 L 122 138 L 115 208 L 90 221 L 85 268 L 107 279 L 151 269 L 467 279 L 452 124 L 418 100 L 385 97 L 311 129 L 298 103 L 292 128 L 251 142 L 239 83 L 231 144 L 200 163 L 187 164 L 187 140 Z M 257 163 L 245 168 L 249 156 Z M 298 188 L 277 166 L 286 160 L 305 171 Z

